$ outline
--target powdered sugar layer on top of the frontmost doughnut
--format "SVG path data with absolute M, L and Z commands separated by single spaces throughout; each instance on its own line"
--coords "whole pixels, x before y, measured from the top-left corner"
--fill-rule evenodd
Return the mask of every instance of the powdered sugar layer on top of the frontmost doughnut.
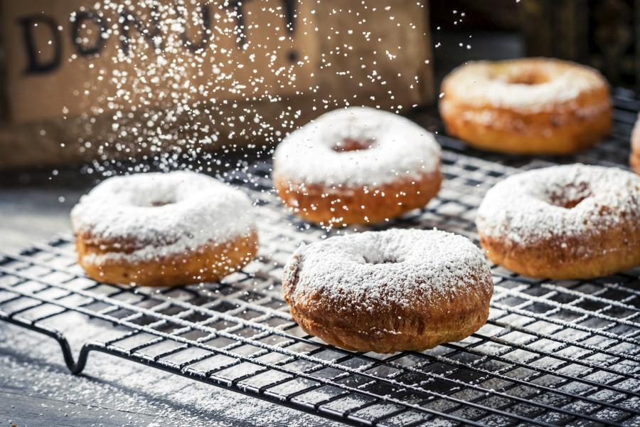
M 299 277 L 292 277 L 298 271 Z M 297 283 L 292 300 L 302 298 L 313 307 L 329 298 L 336 312 L 419 309 L 432 298 L 453 301 L 462 292 L 479 297 L 491 292 L 479 289 L 478 282 L 491 284 L 480 249 L 464 236 L 437 230 L 393 228 L 335 236 L 301 246 L 284 268 L 284 283 Z

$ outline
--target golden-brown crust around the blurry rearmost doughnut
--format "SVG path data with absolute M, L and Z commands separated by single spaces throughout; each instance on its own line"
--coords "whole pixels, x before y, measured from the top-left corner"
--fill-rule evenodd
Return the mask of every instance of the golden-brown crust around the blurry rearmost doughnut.
M 535 67 L 545 60 L 526 61 Z M 458 84 L 454 73 L 442 83 L 440 114 L 449 135 L 473 147 L 514 154 L 568 154 L 591 147 L 611 131 L 612 106 L 603 78 L 594 79 L 599 83 L 592 90 L 582 91 L 570 102 L 559 102 L 550 111 L 518 112 L 457 96 L 452 90 Z

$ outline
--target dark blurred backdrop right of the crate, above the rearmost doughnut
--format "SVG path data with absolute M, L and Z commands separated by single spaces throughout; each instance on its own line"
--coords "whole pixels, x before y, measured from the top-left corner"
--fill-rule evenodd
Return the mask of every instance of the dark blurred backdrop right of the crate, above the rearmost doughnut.
M 460 58 L 548 56 L 590 65 L 612 85 L 638 89 L 637 1 L 454 0 L 432 1 L 430 6 L 436 45 L 475 42 L 466 54 L 435 48 L 440 77 Z

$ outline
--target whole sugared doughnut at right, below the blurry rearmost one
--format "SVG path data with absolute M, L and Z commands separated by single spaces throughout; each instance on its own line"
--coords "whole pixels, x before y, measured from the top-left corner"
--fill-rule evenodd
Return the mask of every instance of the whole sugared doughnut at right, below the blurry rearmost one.
M 640 264 L 640 176 L 571 164 L 509 176 L 476 226 L 493 263 L 532 278 L 588 279 Z

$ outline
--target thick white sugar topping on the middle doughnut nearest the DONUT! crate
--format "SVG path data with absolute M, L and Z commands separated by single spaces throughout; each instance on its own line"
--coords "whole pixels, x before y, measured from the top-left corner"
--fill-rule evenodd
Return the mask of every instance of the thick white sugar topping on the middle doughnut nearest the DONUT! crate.
M 334 149 L 348 140 L 370 147 Z M 405 117 L 349 107 L 327 112 L 284 138 L 274 153 L 274 170 L 304 183 L 380 185 L 434 172 L 440 156 L 433 135 Z

